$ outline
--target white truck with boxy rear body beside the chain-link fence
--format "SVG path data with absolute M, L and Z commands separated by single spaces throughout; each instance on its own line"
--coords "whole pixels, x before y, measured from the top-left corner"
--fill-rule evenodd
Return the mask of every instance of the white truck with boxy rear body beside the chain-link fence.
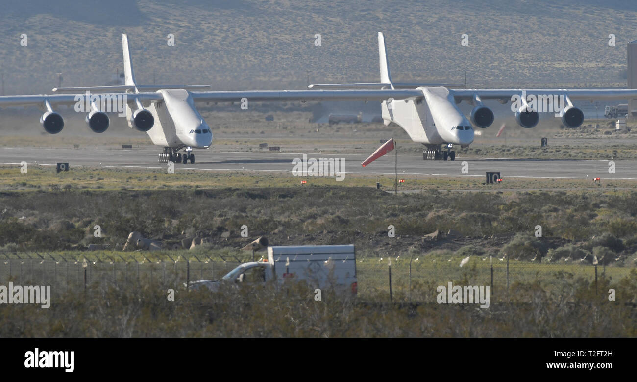
M 357 293 L 356 251 L 343 246 L 270 246 L 268 259 L 243 263 L 219 280 L 192 281 L 191 290 L 206 287 L 218 291 L 221 283 L 255 284 L 304 281 L 311 288 L 334 288 Z

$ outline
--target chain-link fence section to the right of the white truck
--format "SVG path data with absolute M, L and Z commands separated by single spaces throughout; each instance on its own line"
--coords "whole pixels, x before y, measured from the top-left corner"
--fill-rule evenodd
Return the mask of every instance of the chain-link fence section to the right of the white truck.
M 380 300 L 436 302 L 438 288 L 447 293 L 454 286 L 489 286 L 490 300 L 524 300 L 529 286 L 545 293 L 565 286 L 589 283 L 596 293 L 627 278 L 637 279 L 637 268 L 622 265 L 591 265 L 580 261 L 519 261 L 509 258 L 358 258 L 359 296 Z M 451 283 L 451 284 L 450 284 Z

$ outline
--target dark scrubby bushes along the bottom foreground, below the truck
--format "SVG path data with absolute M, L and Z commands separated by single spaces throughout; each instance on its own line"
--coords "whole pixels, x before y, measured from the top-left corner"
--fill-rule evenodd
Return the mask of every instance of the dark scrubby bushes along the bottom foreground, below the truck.
M 462 282 L 462 280 L 459 280 Z M 291 285 L 175 290 L 171 283 L 101 284 L 71 290 L 49 309 L 0 305 L 2 337 L 635 337 L 635 277 L 617 285 L 617 301 L 594 284 L 556 275 L 552 290 L 512 285 L 510 302 L 388 304 L 345 300 Z M 123 285 L 123 287 L 122 287 Z M 435 284 L 415 284 L 429 290 Z M 601 280 L 599 288 L 609 284 Z M 523 301 L 523 302 L 519 302 Z M 474 309 L 475 308 L 475 309 Z M 276 314 L 273 314 L 276 312 Z

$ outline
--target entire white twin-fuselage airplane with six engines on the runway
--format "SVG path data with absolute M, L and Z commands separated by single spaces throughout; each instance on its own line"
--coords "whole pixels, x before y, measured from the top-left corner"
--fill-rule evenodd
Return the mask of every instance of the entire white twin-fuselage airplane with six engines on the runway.
M 380 83 L 310 85 L 310 90 L 294 91 L 192 91 L 210 86 L 137 85 L 125 34 L 122 35 L 122 47 L 124 85 L 54 89 L 57 93 L 71 94 L 0 96 L 0 107 L 37 106 L 43 111 L 40 123 L 45 131 L 56 134 L 64 128 L 64 120 L 54 107 L 75 104 L 76 110 L 87 113 L 85 120 L 89 128 L 103 133 L 110 124 L 106 112 L 114 110 L 110 102 L 122 99 L 129 127 L 148 133 L 155 145 L 164 147 L 158 156 L 159 162 L 185 164 L 187 161 L 194 163 L 193 148 L 206 149 L 212 143 L 212 133 L 197 112 L 196 102 L 380 101 L 385 124 L 398 124 L 413 142 L 424 144 L 427 147 L 423 152 L 424 159 L 454 160 L 453 145 L 468 146 L 473 142 L 471 122 L 479 128 L 487 128 L 493 122 L 493 112 L 483 105 L 483 99 L 507 103 L 513 96 L 521 97 L 526 93 L 562 94 L 568 103 L 562 111 L 562 121 L 566 126 L 576 128 L 583 122 L 583 113 L 573 107 L 571 99 L 637 98 L 637 89 L 450 89 L 459 84 L 394 84 L 382 33 L 378 33 Z M 318 87 L 327 89 L 313 89 Z M 469 115 L 471 122 L 457 107 L 462 100 L 474 105 Z M 82 110 L 78 105 L 87 107 Z M 533 128 L 539 121 L 538 112 L 529 108 L 526 101 L 515 117 L 523 128 Z M 441 149 L 442 145 L 446 145 L 447 150 Z M 179 152 L 182 149 L 183 154 Z

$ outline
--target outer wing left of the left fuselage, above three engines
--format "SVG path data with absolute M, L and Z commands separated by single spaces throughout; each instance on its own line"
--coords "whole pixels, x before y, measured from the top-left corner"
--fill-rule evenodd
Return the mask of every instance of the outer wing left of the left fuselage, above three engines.
M 56 105 L 75 105 L 78 102 L 85 102 L 87 94 L 33 94 L 31 96 L 0 96 L 0 107 L 11 106 L 39 106 L 43 107 L 48 103 L 55 107 Z M 92 97 L 112 97 L 111 99 L 126 98 L 127 103 L 134 103 L 135 99 L 139 99 L 141 103 L 150 103 L 163 99 L 159 92 L 143 92 L 143 93 L 125 93 L 114 92 L 104 94 L 89 94 Z M 90 101 L 90 100 L 89 100 Z

